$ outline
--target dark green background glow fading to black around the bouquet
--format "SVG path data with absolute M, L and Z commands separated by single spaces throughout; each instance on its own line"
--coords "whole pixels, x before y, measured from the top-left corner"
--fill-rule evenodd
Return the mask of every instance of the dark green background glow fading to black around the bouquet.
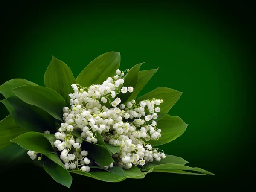
M 122 70 L 141 62 L 146 62 L 141 70 L 159 67 L 140 95 L 156 87 L 184 92 L 169 114 L 189 124 L 181 137 L 161 148 L 215 174 L 151 173 L 121 183 L 75 176 L 72 190 L 248 187 L 254 163 L 250 99 L 255 88 L 250 5 L 60 2 L 6 4 L 2 9 L 0 84 L 24 78 L 44 86 L 51 55 L 64 61 L 75 77 L 109 51 L 121 53 Z M 8 113 L 0 107 L 3 119 Z M 3 183 L 19 189 L 65 189 L 36 167 L 20 166 L 3 174 Z

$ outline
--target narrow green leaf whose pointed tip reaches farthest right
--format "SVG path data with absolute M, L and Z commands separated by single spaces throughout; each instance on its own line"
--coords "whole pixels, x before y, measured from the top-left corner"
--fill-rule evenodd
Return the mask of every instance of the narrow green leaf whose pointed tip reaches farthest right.
M 143 166 L 143 170 L 148 170 L 148 169 L 151 169 L 154 167 L 154 171 L 156 171 L 157 169 L 178 169 L 178 170 L 185 170 L 185 171 L 195 171 L 195 172 L 200 172 L 200 173 L 203 173 L 203 174 L 207 174 L 207 175 L 214 175 L 212 174 L 211 172 L 208 172 L 204 169 L 201 169 L 201 168 L 198 168 L 198 167 L 189 167 L 189 166 L 184 166 L 184 165 L 179 165 L 179 164 L 172 164 L 172 163 L 169 163 L 169 164 L 161 164 L 161 165 L 146 165 L 146 166 Z

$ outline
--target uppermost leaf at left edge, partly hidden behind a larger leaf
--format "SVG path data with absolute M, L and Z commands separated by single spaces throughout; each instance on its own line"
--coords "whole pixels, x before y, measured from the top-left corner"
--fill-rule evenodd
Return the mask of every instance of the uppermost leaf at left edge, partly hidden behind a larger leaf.
M 9 81 L 6 81 L 4 84 L 0 86 L 0 93 L 2 93 L 5 98 L 8 98 L 10 96 L 15 96 L 15 94 L 12 92 L 11 89 L 14 89 L 16 87 L 20 87 L 23 85 L 38 86 L 38 84 L 27 81 L 26 79 L 11 79 Z

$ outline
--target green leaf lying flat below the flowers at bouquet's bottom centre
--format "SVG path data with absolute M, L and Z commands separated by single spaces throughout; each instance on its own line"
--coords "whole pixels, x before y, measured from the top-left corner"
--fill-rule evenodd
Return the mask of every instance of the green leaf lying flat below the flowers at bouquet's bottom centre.
M 120 175 L 115 175 L 113 173 L 110 172 L 106 172 L 104 170 L 91 170 L 90 172 L 82 172 L 80 170 L 73 170 L 70 171 L 71 173 L 76 173 L 79 175 L 84 175 L 87 177 L 91 177 L 97 180 L 102 180 L 105 182 L 119 182 L 122 180 L 125 180 L 127 178 L 127 176 L 120 176 Z

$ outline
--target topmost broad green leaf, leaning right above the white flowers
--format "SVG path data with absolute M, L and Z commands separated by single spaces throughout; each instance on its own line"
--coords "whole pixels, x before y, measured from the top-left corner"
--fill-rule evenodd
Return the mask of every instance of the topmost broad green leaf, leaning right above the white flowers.
M 90 62 L 76 78 L 82 87 L 102 84 L 108 77 L 113 77 L 120 65 L 119 52 L 107 52 Z

